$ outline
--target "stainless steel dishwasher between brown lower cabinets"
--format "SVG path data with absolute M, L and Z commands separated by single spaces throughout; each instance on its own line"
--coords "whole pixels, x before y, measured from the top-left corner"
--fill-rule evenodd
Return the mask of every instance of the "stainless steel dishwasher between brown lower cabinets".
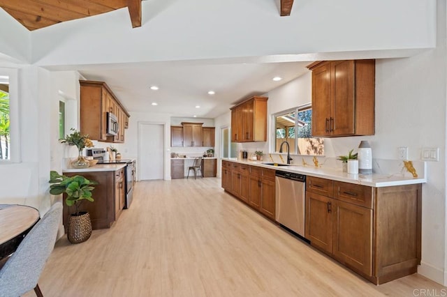
M 277 171 L 275 175 L 275 220 L 304 237 L 306 176 L 281 171 Z

